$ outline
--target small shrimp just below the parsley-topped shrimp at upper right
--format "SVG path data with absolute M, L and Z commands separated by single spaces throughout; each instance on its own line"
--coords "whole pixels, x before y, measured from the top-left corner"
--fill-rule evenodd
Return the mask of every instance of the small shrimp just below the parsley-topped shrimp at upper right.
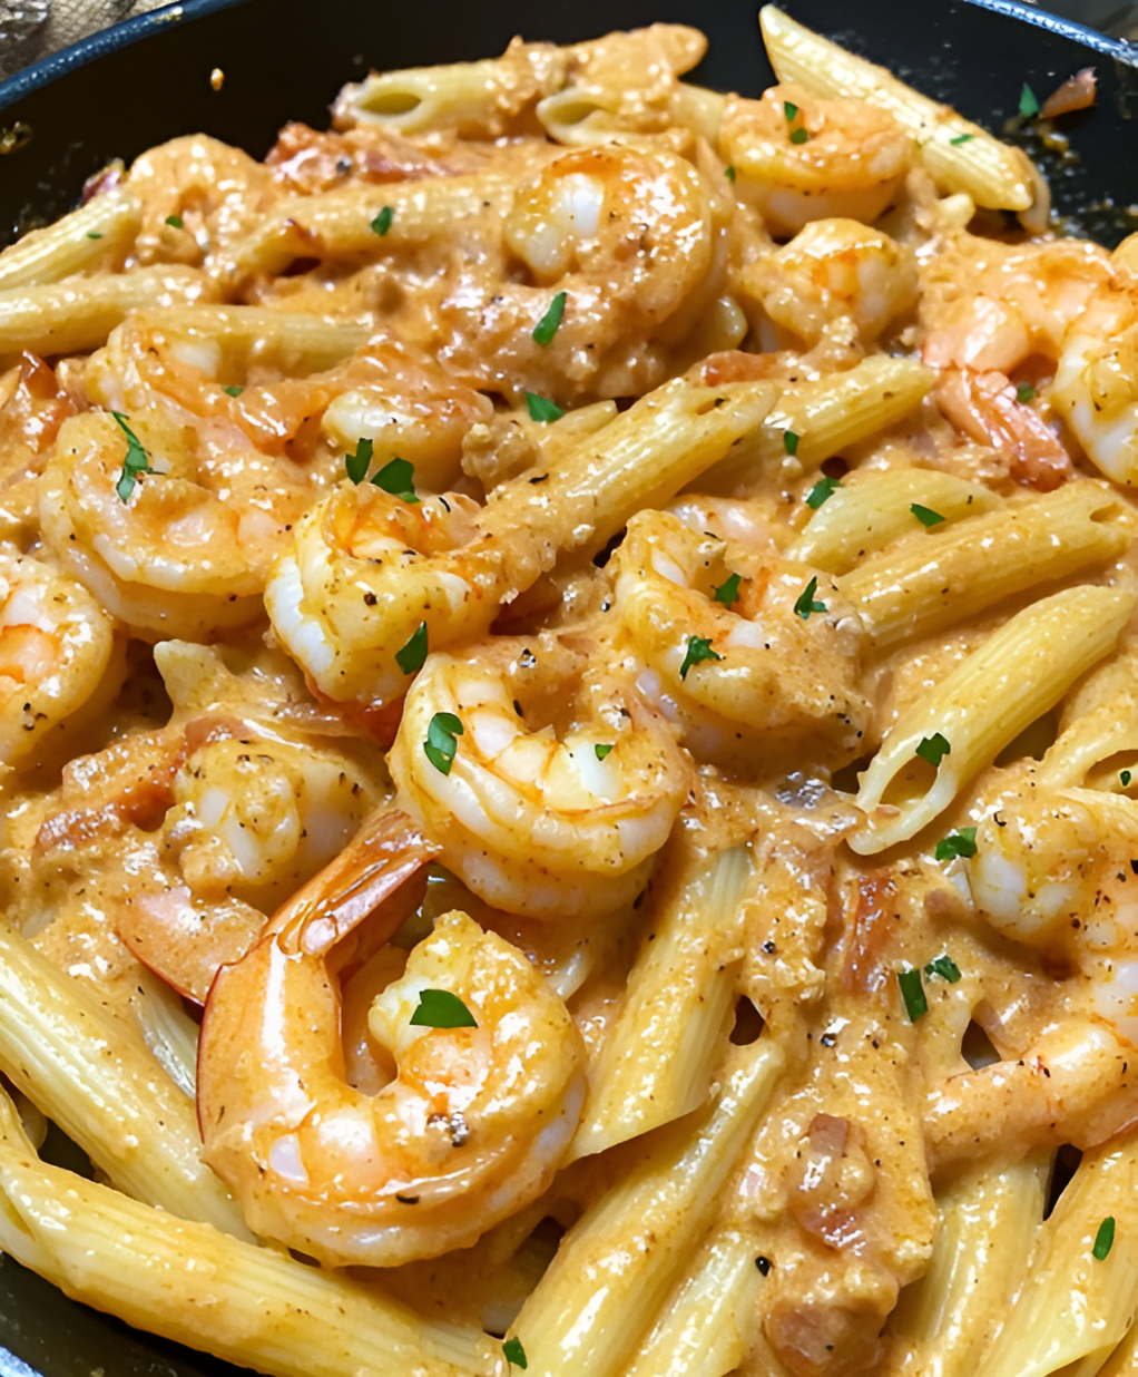
M 916 304 L 912 253 L 857 220 L 812 220 L 740 273 L 740 295 L 813 348 L 827 335 L 870 346 Z

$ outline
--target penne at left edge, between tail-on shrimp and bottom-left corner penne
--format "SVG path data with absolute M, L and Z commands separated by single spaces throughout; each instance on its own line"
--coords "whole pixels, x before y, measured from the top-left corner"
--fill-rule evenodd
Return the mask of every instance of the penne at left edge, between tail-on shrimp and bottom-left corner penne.
M 193 1100 L 142 1034 L 103 1012 L 18 932 L 0 927 L 0 1070 L 122 1191 L 252 1238 L 201 1162 Z

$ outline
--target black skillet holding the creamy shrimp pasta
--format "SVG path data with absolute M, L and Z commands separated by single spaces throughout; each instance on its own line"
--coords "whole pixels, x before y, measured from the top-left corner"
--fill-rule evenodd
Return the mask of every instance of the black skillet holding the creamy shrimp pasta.
M 786 0 L 839 40 L 1000 131 L 1029 83 L 1042 99 L 1083 66 L 1098 107 L 1069 117 L 1053 165 L 1058 212 L 1115 244 L 1138 227 L 1138 47 L 1017 0 Z M 132 19 L 0 83 L 0 244 L 74 205 L 84 179 L 176 134 L 202 131 L 256 157 L 286 120 L 326 124 L 340 85 L 369 67 L 489 56 L 515 33 L 567 43 L 655 19 L 703 29 L 706 85 L 758 94 L 773 77 L 754 0 L 187 0 Z M 211 85 L 220 67 L 224 84 Z M 1134 208 L 1134 209 L 1131 209 Z M 48 1143 L 51 1153 L 52 1140 Z M 59 1154 L 69 1146 L 58 1144 Z M 0 1263 L 0 1377 L 222 1377 L 235 1369 L 139 1334 Z M 17 1356 L 18 1355 L 18 1356 Z

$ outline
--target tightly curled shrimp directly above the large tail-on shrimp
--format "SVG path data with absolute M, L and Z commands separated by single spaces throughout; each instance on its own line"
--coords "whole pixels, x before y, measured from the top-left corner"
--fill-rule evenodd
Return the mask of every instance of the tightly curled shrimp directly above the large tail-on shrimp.
M 440 726 L 450 760 L 435 749 Z M 691 784 L 633 684 L 549 633 L 428 657 L 388 764 L 447 868 L 493 907 L 533 918 L 634 899 Z

